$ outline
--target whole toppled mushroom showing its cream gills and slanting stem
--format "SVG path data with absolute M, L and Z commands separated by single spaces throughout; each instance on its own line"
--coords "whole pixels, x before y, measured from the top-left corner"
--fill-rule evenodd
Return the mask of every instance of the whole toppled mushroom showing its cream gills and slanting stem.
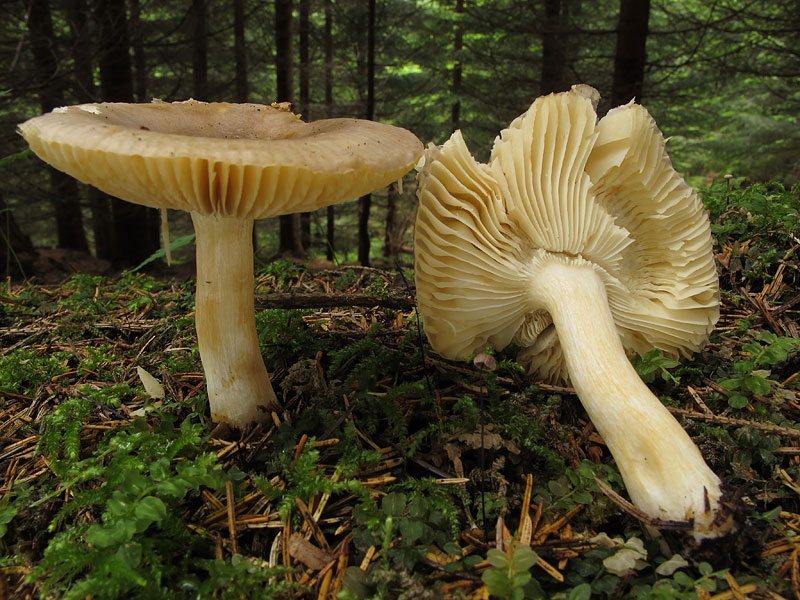
M 487 164 L 460 132 L 419 174 L 417 302 L 438 353 L 514 342 L 531 375 L 571 382 L 634 504 L 730 530 L 720 480 L 628 353 L 688 356 L 719 316 L 707 215 L 646 109 L 597 122 L 588 86 L 538 98 Z M 593 106 L 594 105 L 594 106 Z

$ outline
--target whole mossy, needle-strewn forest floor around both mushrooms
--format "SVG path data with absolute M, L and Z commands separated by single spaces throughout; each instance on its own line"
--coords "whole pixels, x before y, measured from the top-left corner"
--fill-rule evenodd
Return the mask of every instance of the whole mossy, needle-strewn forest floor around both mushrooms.
M 261 267 L 283 408 L 245 431 L 209 421 L 192 282 L 79 274 L 0 294 L 0 598 L 800 598 L 800 191 L 704 199 L 722 316 L 689 361 L 633 360 L 731 539 L 640 521 L 514 348 L 437 356 L 410 268 Z

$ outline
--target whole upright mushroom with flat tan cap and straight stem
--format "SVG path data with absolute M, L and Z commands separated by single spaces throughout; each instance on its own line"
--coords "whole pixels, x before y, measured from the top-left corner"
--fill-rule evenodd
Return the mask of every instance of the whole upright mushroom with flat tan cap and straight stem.
M 422 144 L 358 119 L 304 123 L 283 105 L 102 103 L 21 124 L 46 162 L 129 202 L 189 211 L 196 328 L 211 417 L 234 426 L 279 404 L 253 302 L 253 220 L 356 198 L 409 171 Z

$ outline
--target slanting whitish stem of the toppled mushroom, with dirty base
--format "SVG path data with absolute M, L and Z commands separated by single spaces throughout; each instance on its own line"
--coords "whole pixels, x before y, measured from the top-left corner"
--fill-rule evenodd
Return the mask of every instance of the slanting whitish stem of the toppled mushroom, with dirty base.
M 596 268 L 554 258 L 531 281 L 533 307 L 550 313 L 572 385 L 633 503 L 656 519 L 694 519 L 698 540 L 728 533 L 715 522 L 719 478 L 628 360 Z

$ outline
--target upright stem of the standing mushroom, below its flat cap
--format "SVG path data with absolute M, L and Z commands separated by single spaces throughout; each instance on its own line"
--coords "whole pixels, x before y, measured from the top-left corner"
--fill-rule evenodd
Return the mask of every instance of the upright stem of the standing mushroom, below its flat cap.
M 264 422 L 278 407 L 256 333 L 253 221 L 192 213 L 196 234 L 195 321 L 211 418 Z

